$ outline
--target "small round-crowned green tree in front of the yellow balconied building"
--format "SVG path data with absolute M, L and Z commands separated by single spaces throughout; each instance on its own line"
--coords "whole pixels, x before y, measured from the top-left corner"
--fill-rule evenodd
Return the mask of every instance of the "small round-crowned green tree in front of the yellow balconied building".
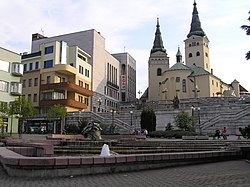
M 67 115 L 67 110 L 64 106 L 60 104 L 53 105 L 49 108 L 47 113 L 47 118 L 52 121 L 54 120 L 54 125 L 56 125 L 56 118 L 60 119 L 60 133 L 62 134 L 64 128 L 65 116 Z

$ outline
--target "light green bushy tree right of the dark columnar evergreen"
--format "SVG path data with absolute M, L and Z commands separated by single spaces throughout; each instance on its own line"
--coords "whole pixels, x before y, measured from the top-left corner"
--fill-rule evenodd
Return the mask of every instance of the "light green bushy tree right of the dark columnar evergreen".
M 182 130 L 190 131 L 193 129 L 194 118 L 185 111 L 179 112 L 175 117 L 175 124 Z

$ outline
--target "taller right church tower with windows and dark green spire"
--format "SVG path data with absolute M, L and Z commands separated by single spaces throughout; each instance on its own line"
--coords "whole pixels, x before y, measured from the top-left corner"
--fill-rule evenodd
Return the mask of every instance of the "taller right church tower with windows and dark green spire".
M 201 28 L 196 2 L 193 4 L 191 29 L 185 42 L 185 61 L 191 67 L 195 64 L 211 73 L 209 60 L 209 40 Z

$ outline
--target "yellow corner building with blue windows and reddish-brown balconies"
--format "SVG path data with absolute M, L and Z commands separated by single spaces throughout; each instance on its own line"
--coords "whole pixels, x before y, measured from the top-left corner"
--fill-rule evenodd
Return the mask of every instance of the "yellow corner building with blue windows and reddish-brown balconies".
M 92 67 L 90 55 L 64 41 L 41 43 L 38 51 L 22 55 L 23 96 L 47 113 L 55 104 L 67 112 L 90 111 Z

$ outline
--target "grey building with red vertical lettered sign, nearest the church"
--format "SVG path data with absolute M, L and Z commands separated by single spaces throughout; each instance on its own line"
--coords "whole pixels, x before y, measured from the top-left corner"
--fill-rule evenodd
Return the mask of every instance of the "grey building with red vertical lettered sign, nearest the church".
M 136 99 L 136 61 L 129 53 L 112 55 L 120 62 L 120 100 L 134 102 Z

